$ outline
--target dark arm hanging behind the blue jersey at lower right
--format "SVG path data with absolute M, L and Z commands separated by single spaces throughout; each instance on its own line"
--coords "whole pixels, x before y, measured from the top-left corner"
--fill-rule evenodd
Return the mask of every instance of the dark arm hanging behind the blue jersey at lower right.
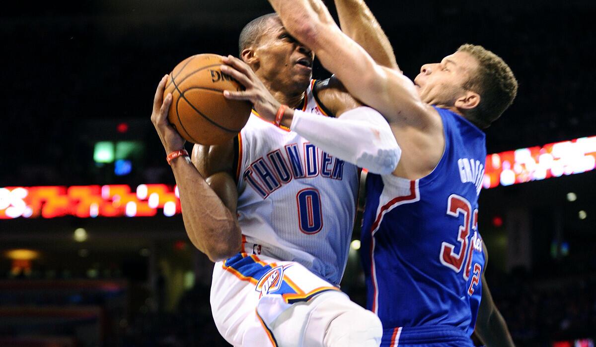
M 485 249 L 485 268 L 488 263 L 488 254 L 486 245 L 482 243 Z M 476 318 L 476 336 L 482 340 L 487 347 L 514 346 L 513 339 L 507 329 L 507 323 L 503 319 L 501 312 L 496 308 L 492 300 L 491 290 L 488 288 L 484 273 L 482 274 L 482 299 L 478 308 L 478 317 Z

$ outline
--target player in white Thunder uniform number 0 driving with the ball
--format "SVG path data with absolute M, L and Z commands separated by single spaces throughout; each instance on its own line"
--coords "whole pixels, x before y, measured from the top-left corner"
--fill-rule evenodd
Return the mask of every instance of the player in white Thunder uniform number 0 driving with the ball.
M 363 27 L 374 32 L 368 37 L 386 40 L 378 27 Z M 371 45 L 371 53 L 382 60 L 387 52 L 379 46 Z M 277 15 L 249 23 L 240 50 L 263 81 L 253 87 L 266 88 L 278 104 L 319 117 L 350 117 L 348 110 L 359 106 L 334 80 L 311 80 L 312 52 L 288 35 Z M 290 132 L 290 118 L 280 123 L 254 111 L 237 139 L 195 145 L 191 160 L 181 151 L 184 140 L 167 124 L 172 97 L 163 98 L 164 80 L 151 119 L 178 183 L 188 236 L 216 261 L 211 305 L 222 336 L 235 346 L 378 346 L 378 318 L 338 288 L 358 168 Z M 377 132 L 390 136 L 386 123 Z M 395 140 L 387 152 L 392 145 Z M 373 170 L 396 165 L 376 165 L 375 153 L 356 155 Z

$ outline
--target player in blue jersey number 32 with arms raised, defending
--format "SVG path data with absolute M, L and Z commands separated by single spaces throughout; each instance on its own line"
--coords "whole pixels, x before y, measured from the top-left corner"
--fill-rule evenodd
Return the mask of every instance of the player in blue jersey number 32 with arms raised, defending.
M 463 45 L 423 65 L 412 82 L 371 59 L 320 0 L 269 2 L 353 96 L 387 118 L 402 150 L 392 173 L 367 179 L 362 257 L 381 346 L 473 346 L 474 329 L 488 346 L 513 345 L 484 279 L 488 256 L 477 228 L 481 129 L 516 96 L 510 68 L 481 46 Z M 359 141 L 341 119 L 289 112 L 292 130 L 339 158 Z

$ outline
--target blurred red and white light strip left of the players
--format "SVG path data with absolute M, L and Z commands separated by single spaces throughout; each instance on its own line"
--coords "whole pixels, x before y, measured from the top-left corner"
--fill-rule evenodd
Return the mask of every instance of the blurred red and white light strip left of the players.
M 169 185 L 0 188 L 0 219 L 170 217 L 180 212 L 175 187 Z

